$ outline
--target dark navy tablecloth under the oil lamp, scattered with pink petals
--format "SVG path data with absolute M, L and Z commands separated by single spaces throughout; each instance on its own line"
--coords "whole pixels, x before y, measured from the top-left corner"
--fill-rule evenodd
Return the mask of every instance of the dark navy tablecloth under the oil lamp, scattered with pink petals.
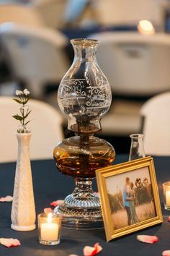
M 115 163 L 128 161 L 127 155 L 117 155 Z M 170 180 L 170 157 L 154 158 L 156 176 L 158 181 L 161 207 L 164 223 L 153 226 L 135 234 L 121 237 L 111 242 L 106 242 L 104 229 L 99 230 L 70 230 L 62 228 L 61 244 L 44 246 L 38 242 L 37 229 L 34 231 L 20 232 L 10 229 L 11 202 L 0 202 L 0 237 L 17 238 L 20 247 L 6 248 L 0 245 L 0 256 L 68 256 L 69 254 L 83 255 L 85 245 L 93 246 L 99 242 L 103 247 L 100 256 L 147 256 L 161 255 L 165 249 L 170 249 L 170 223 L 167 216 L 170 212 L 163 208 L 162 183 Z M 12 195 L 14 187 L 14 173 L 16 163 L 0 164 L 0 197 Z M 74 182 L 71 177 L 60 174 L 55 168 L 53 160 L 32 161 L 32 179 L 35 192 L 36 213 L 42 213 L 44 208 L 50 207 L 53 200 L 63 199 L 72 192 Z M 95 189 L 95 185 L 94 185 Z M 138 234 L 158 236 L 155 244 L 138 242 Z

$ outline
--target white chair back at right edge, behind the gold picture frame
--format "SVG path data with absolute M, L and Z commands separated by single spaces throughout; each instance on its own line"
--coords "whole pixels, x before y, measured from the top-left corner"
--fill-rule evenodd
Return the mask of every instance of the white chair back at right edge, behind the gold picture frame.
M 149 99 L 141 108 L 147 155 L 170 155 L 170 92 Z

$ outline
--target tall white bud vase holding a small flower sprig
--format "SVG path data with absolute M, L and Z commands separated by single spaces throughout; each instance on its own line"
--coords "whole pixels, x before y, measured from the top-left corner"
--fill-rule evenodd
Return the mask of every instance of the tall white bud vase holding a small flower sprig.
M 35 229 L 35 200 L 30 164 L 31 133 L 17 133 L 18 155 L 12 202 L 12 226 L 17 231 Z

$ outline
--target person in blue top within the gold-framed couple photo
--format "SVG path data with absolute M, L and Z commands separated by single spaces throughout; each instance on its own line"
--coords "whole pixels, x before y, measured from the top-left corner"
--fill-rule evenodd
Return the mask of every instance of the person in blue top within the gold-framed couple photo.
M 127 216 L 128 216 L 128 226 L 131 225 L 129 192 L 130 192 L 130 179 L 129 179 L 129 177 L 126 177 L 125 186 L 123 188 L 122 196 L 123 196 L 123 206 L 124 206 Z

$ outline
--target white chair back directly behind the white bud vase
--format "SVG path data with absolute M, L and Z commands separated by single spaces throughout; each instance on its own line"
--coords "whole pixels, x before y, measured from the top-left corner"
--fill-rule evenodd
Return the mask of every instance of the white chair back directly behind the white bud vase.
M 63 140 L 62 117 L 52 106 L 41 101 L 30 100 L 30 158 L 53 158 L 53 149 Z M 17 160 L 17 126 L 19 122 L 12 116 L 18 113 L 18 106 L 11 97 L 0 96 L 0 163 Z M 3 120 L 3 121 L 2 121 Z

